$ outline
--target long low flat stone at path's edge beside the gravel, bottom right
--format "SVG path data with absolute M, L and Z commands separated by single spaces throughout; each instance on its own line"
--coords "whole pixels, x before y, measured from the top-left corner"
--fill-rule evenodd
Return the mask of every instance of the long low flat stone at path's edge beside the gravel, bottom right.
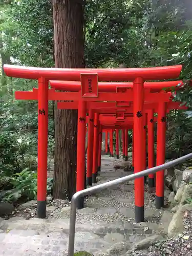
M 134 250 L 141 250 L 141 249 L 146 249 L 152 245 L 155 245 L 161 241 L 165 240 L 162 236 L 155 234 L 154 236 L 147 237 L 137 243 L 135 243 L 132 246 L 132 249 Z

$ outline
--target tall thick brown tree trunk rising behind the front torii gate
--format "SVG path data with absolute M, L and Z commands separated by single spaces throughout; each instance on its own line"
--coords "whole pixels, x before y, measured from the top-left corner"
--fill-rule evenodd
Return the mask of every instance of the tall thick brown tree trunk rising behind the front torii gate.
M 53 22 L 55 67 L 84 68 L 83 1 L 53 0 Z M 76 146 L 77 111 L 55 108 L 54 198 L 76 191 Z

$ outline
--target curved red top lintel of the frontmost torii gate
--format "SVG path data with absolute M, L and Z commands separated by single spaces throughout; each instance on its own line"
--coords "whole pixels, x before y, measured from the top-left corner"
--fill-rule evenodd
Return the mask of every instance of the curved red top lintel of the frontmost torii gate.
M 81 74 L 97 74 L 99 81 L 133 81 L 137 77 L 144 80 L 160 80 L 177 78 L 182 66 L 129 68 L 129 69 L 55 69 L 34 68 L 14 65 L 4 65 L 7 76 L 27 79 L 45 77 L 48 80 L 80 81 Z

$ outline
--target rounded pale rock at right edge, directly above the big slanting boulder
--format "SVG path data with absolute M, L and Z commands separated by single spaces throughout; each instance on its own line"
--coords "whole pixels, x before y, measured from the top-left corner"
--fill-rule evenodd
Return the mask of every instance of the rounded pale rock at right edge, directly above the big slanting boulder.
M 181 204 L 186 204 L 187 199 L 192 198 L 192 184 L 181 184 L 175 196 L 175 201 Z

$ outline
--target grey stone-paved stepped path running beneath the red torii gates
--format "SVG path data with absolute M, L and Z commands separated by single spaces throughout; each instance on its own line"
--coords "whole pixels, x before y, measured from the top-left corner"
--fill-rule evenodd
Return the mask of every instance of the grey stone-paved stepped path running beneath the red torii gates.
M 130 175 L 123 168 L 115 169 L 122 160 L 102 156 L 98 183 Z M 147 187 L 146 187 L 147 190 Z M 57 215 L 29 220 L 13 217 L 0 219 L 0 255 L 67 255 L 70 207 Z M 77 210 L 75 251 L 88 251 L 95 256 L 125 255 L 126 251 L 146 238 L 167 233 L 173 213 L 155 209 L 153 195 L 145 193 L 145 222 L 135 223 L 134 182 L 103 190 L 85 200 Z

